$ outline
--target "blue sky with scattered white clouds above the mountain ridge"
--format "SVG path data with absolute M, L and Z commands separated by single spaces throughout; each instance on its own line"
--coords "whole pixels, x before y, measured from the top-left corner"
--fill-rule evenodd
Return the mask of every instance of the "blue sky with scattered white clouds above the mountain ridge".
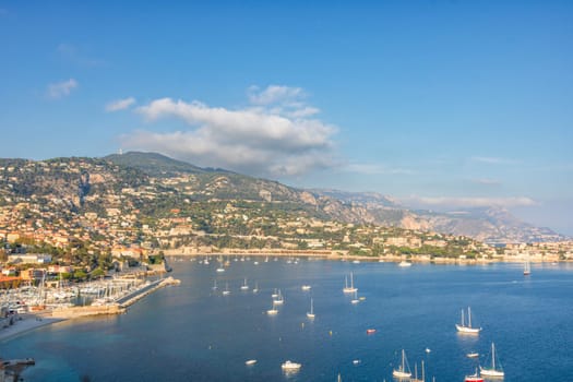
M 0 157 L 158 152 L 573 235 L 572 41 L 569 0 L 0 0 Z

